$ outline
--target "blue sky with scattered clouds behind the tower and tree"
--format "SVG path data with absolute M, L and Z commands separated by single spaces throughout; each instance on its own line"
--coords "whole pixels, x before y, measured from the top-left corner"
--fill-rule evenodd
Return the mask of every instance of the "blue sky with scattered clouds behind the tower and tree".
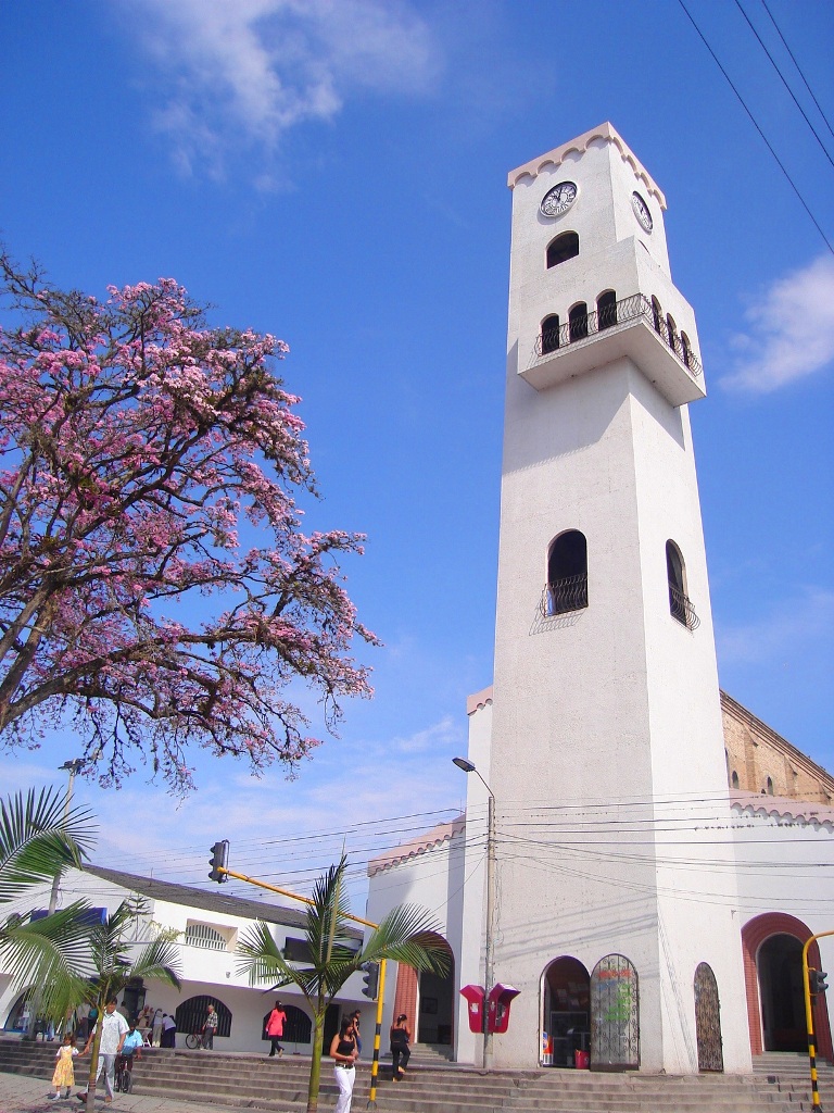
M 738 7 L 687 7 L 834 242 L 834 136 L 742 2 L 828 156 Z M 834 6 L 768 6 L 834 120 Z M 301 885 L 340 833 L 360 867 L 460 805 L 449 759 L 492 680 L 506 175 L 606 119 L 666 194 L 697 314 L 721 682 L 834 768 L 834 255 L 676 0 L 7 0 L 0 37 L 7 246 L 97 295 L 172 276 L 217 323 L 287 341 L 311 519 L 368 534 L 347 572 L 385 642 L 376 699 L 295 781 L 203 758 L 185 804 L 141 769 L 120 792 L 79 785 L 100 860 L 198 881 L 228 837 L 232 865 Z M 73 756 L 50 739 L 3 780 L 60 782 Z

